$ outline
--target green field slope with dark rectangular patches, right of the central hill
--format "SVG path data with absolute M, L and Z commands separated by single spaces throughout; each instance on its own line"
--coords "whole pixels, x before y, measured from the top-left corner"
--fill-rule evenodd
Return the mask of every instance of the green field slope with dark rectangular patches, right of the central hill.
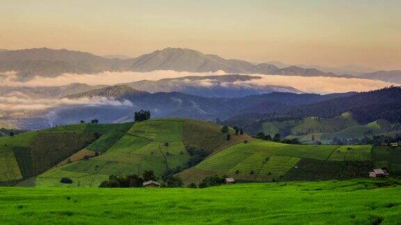
M 299 145 L 255 140 L 223 149 L 185 170 L 180 176 L 187 184 L 200 183 L 205 176 L 214 174 L 246 182 L 314 181 L 367 176 L 368 162 L 372 161 L 371 149 L 369 145 Z M 354 161 L 356 163 L 352 163 Z M 354 173 L 360 167 L 358 162 L 367 163 L 363 163 L 363 168 Z M 356 166 L 349 169 L 349 164 Z

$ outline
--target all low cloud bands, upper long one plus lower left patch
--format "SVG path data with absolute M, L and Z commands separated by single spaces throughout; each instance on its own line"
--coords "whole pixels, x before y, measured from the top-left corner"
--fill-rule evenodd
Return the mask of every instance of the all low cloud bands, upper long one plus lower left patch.
M 30 81 L 16 81 L 15 72 L 1 73 L 6 75 L 0 78 L 1 86 L 13 87 L 44 87 L 44 86 L 63 86 L 71 83 L 86 83 L 88 85 L 115 85 L 119 83 L 129 83 L 134 81 L 157 81 L 162 78 L 179 78 L 183 76 L 210 76 L 223 75 L 225 72 L 214 73 L 189 73 L 175 71 L 155 71 L 155 72 L 102 72 L 100 74 L 63 74 L 54 78 L 36 76 Z M 313 92 L 320 94 L 328 94 L 335 92 L 363 92 L 369 90 L 377 90 L 390 85 L 396 85 L 384 81 L 374 81 L 363 78 L 336 78 L 322 76 L 278 76 L 251 74 L 251 76 L 260 76 L 261 79 L 253 79 L 251 81 L 236 81 L 235 83 L 226 83 L 226 85 L 237 87 L 258 87 L 264 85 L 277 85 L 296 88 L 301 92 Z M 187 80 L 184 80 L 187 81 Z M 203 86 L 205 88 L 212 87 L 213 80 L 205 78 L 201 81 L 190 81 L 194 85 Z M 222 83 L 221 85 L 225 85 Z M 110 106 L 132 106 L 130 101 L 116 101 L 104 97 L 96 97 L 93 99 L 31 99 L 26 94 L 20 92 L 11 92 L 6 96 L 0 97 L 0 108 L 2 110 L 43 110 L 54 108 L 56 106 L 66 105 L 110 105 Z

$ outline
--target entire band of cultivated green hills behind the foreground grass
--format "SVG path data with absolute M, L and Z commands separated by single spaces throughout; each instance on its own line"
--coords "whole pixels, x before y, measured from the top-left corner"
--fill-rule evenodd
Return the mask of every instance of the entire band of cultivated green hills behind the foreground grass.
M 97 187 L 109 175 L 152 170 L 162 177 L 185 168 L 178 176 L 186 184 L 214 174 L 244 182 L 349 179 L 367 176 L 374 166 L 401 174 L 397 148 L 282 144 L 235 135 L 231 128 L 229 134 L 227 140 L 221 126 L 178 118 L 75 124 L 22 133 L 0 138 L 0 181 L 2 185 Z M 194 147 L 207 156 L 197 165 L 189 164 L 195 158 Z M 61 183 L 64 177 L 73 183 Z

